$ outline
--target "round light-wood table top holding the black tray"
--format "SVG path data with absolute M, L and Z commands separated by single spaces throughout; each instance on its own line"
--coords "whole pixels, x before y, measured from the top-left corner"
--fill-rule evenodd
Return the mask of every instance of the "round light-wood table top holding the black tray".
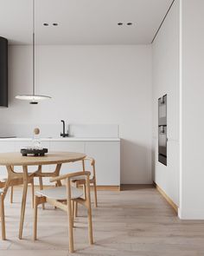
M 21 153 L 1 153 L 0 165 L 2 166 L 35 166 L 61 164 L 80 161 L 86 154 L 77 152 L 50 152 L 44 156 L 22 156 Z

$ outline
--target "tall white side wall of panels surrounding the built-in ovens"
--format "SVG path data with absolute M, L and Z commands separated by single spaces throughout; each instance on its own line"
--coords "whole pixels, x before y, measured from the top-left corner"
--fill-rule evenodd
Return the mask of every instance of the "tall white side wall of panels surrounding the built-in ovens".
M 167 94 L 167 167 L 158 162 L 158 98 Z M 179 206 L 179 1 L 153 43 L 154 181 Z

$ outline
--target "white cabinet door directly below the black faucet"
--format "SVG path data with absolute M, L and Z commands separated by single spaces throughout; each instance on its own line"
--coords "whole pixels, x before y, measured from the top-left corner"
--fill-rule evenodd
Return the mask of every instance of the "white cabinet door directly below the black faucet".
M 61 151 L 61 152 L 78 152 L 84 153 L 84 142 L 83 141 L 50 141 L 50 152 Z M 51 166 L 55 167 L 55 166 Z M 61 174 L 67 174 L 71 172 L 78 172 L 82 170 L 81 161 L 73 163 L 64 163 L 61 166 Z

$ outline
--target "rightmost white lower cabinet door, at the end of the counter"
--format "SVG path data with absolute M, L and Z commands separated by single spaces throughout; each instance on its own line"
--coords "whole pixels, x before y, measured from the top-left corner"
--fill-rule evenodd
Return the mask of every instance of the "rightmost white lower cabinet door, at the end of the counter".
M 120 185 L 119 141 L 87 141 L 86 154 L 96 161 L 97 185 Z

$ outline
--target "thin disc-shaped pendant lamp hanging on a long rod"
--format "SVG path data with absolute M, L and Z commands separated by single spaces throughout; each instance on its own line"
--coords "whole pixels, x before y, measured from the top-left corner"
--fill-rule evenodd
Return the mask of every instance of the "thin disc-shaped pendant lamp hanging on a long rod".
M 31 95 L 16 95 L 16 99 L 38 104 L 39 101 L 51 99 L 46 95 L 35 95 L 35 0 L 33 0 L 33 91 Z

